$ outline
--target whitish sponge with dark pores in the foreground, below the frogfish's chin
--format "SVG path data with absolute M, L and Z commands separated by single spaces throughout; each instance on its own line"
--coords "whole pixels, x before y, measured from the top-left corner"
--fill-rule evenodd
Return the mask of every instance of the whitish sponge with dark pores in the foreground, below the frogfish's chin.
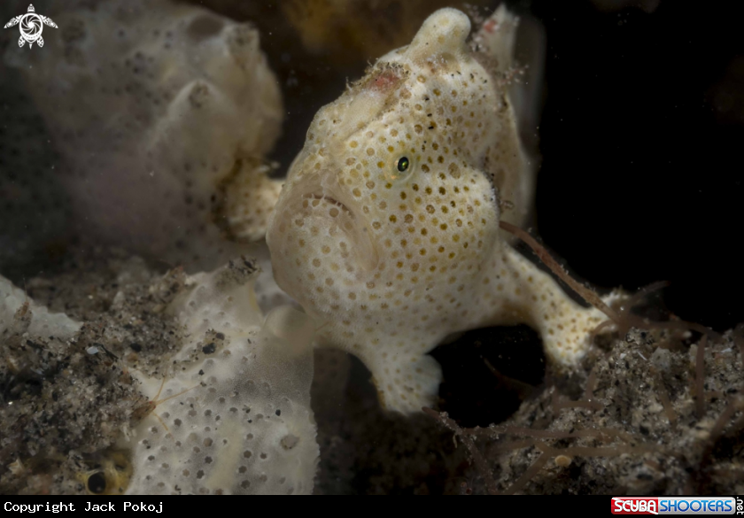
M 136 374 L 155 404 L 122 442 L 128 494 L 313 491 L 313 323 L 287 306 L 264 320 L 254 281 L 252 263 L 232 262 L 190 277 L 170 305 L 184 344 L 159 377 Z

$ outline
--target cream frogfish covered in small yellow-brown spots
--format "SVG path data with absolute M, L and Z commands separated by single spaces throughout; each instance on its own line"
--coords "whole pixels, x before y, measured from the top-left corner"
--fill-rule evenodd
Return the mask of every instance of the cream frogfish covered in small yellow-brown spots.
M 469 30 L 461 12 L 435 12 L 323 107 L 269 220 L 280 287 L 404 414 L 432 405 L 441 370 L 426 353 L 453 332 L 526 322 L 573 365 L 602 320 L 500 234 L 492 172 L 510 163 L 494 168 L 509 106 Z

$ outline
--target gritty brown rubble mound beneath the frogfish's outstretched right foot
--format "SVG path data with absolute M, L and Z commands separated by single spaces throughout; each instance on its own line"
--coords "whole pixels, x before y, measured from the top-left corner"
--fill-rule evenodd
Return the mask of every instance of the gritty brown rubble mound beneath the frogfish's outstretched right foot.
M 687 346 L 632 330 L 507 421 L 460 430 L 482 460 L 469 488 L 526 494 L 739 494 L 742 329 Z M 467 440 L 467 439 L 466 439 Z

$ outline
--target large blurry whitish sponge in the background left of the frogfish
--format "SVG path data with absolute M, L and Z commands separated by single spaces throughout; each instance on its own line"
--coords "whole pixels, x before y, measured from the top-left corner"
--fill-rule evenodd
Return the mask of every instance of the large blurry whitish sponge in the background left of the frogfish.
M 55 21 L 58 41 L 4 60 L 64 158 L 56 174 L 77 225 L 191 272 L 245 252 L 226 235 L 262 239 L 281 189 L 264 158 L 283 105 L 258 30 L 167 0 Z

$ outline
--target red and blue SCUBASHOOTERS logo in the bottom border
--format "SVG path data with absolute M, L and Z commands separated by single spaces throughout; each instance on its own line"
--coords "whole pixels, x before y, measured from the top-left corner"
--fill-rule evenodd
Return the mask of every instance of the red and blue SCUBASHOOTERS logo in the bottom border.
M 612 514 L 744 514 L 733 497 L 614 497 Z

